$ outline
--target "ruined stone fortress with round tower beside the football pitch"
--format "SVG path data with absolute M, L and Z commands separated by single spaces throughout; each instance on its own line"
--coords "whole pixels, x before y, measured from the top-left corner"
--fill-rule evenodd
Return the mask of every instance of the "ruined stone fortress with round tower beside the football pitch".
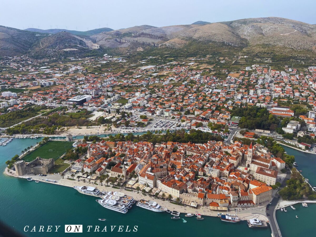
M 16 161 L 14 163 L 15 171 L 18 176 L 25 175 L 28 173 L 33 174 L 45 174 L 54 167 L 54 159 L 43 159 L 39 156 L 35 160 L 26 163 L 25 161 Z

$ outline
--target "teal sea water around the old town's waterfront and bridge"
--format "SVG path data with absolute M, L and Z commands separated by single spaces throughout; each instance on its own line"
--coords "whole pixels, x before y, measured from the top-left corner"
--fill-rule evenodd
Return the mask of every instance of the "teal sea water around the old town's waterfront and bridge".
M 5 161 L 11 159 L 16 154 L 28 146 L 36 144 L 38 139 L 14 139 L 6 146 L 0 146 L 0 170 L 4 171 Z M 0 140 L 1 141 L 1 140 Z M 310 174 L 306 177 L 315 180 L 313 167 L 304 166 L 305 153 L 294 149 L 285 148 L 288 154 L 298 156 L 296 161 L 300 164 L 300 169 L 304 173 Z M 309 154 L 307 155 L 309 156 Z M 316 162 L 316 157 L 312 161 Z M 304 167 L 304 168 L 303 168 Z M 311 171 L 307 171 L 311 169 Z M 83 195 L 75 189 L 49 183 L 35 183 L 26 179 L 9 177 L 0 172 L 0 220 L 9 227 L 22 233 L 25 236 L 69 236 L 64 233 L 65 224 L 82 224 L 84 233 L 76 236 L 271 236 L 270 228 L 252 229 L 248 228 L 245 221 L 239 223 L 222 222 L 217 217 L 205 216 L 204 220 L 196 220 L 195 217 L 185 217 L 181 214 L 181 219 L 171 220 L 168 213 L 156 213 L 153 211 L 139 208 L 136 205 L 126 214 L 107 210 L 100 206 L 95 200 L 96 197 Z M 128 191 L 125 191 L 128 194 Z M 298 205 L 297 205 L 298 206 Z M 313 225 L 307 223 L 313 221 L 313 214 L 316 205 L 308 204 L 308 208 L 297 208 L 289 210 L 288 213 L 277 213 L 280 229 L 283 236 L 311 236 L 314 231 Z M 280 214 L 280 215 L 279 215 Z M 295 218 L 295 215 L 299 219 Z M 294 216 L 294 218 L 293 218 Z M 105 222 L 98 219 L 105 218 Z M 285 219 L 286 218 L 286 219 Z M 286 220 L 286 221 L 285 221 Z M 305 223 L 302 228 L 298 228 L 299 223 Z M 23 232 L 25 226 L 30 229 L 36 226 L 36 232 Z M 38 232 L 39 226 L 60 225 L 58 232 Z M 124 226 L 123 232 L 117 232 L 118 226 Z M 90 232 L 86 232 L 87 226 L 93 226 Z M 105 226 L 107 232 L 92 232 L 94 226 L 100 226 L 102 230 Z M 111 232 L 111 226 L 117 226 Z M 127 226 L 130 232 L 125 232 Z M 137 226 L 137 232 L 132 232 Z M 9 236 L 9 235 L 8 235 Z

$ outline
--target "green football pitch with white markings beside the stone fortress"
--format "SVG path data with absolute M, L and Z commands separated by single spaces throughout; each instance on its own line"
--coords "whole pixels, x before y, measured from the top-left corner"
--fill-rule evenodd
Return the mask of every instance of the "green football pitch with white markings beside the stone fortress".
M 31 153 L 27 154 L 22 159 L 29 162 L 35 160 L 36 157 L 40 156 L 41 158 L 45 159 L 53 158 L 57 160 L 67 150 L 72 148 L 72 144 L 73 142 L 48 141 L 46 144 L 33 150 Z

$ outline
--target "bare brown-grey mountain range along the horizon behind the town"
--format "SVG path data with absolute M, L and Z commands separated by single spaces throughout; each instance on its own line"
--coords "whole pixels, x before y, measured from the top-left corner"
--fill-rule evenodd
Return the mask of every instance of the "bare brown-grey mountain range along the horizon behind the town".
M 279 17 L 248 18 L 210 23 L 197 21 L 190 25 L 154 27 L 134 26 L 112 30 L 90 31 L 64 29 L 19 30 L 0 26 L 0 56 L 23 53 L 53 55 L 64 52 L 86 52 L 92 49 L 114 52 L 137 52 L 154 47 L 185 48 L 192 42 L 232 47 L 282 47 L 316 51 L 316 25 Z

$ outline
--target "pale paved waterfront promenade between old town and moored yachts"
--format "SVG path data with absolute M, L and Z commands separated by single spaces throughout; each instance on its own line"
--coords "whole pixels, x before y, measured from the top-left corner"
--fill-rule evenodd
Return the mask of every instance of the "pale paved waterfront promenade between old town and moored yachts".
M 181 213 L 192 213 L 192 214 L 199 213 L 203 216 L 217 216 L 217 213 L 218 213 L 218 211 L 211 211 L 208 207 L 205 207 L 205 206 L 204 207 L 199 206 L 198 209 L 195 209 L 195 208 L 192 208 L 189 206 L 180 206 L 180 205 L 172 204 L 167 200 L 164 201 L 161 199 L 154 199 L 153 197 L 150 197 L 149 195 L 144 196 L 141 192 L 137 193 L 137 191 L 126 191 L 124 189 L 116 189 L 116 188 L 112 188 L 112 187 L 106 187 L 104 185 L 101 186 L 101 185 L 95 185 L 95 184 L 91 184 L 91 183 L 89 184 L 88 182 L 78 181 L 77 179 L 76 179 L 76 181 L 69 180 L 66 178 L 63 179 L 60 175 L 47 175 L 44 178 L 44 179 L 52 179 L 52 180 L 58 181 L 57 183 L 53 183 L 50 181 L 42 180 L 43 177 L 38 176 L 38 175 L 25 175 L 25 176 L 18 177 L 15 174 L 15 172 L 10 174 L 8 168 L 5 169 L 4 173 L 9 175 L 9 176 L 13 176 L 15 178 L 25 178 L 26 179 L 28 177 L 32 177 L 33 180 L 38 180 L 40 182 L 45 182 L 45 183 L 57 184 L 57 185 L 61 185 L 61 186 L 67 186 L 70 188 L 73 188 L 74 186 L 93 186 L 93 187 L 98 188 L 100 191 L 121 191 L 121 192 L 124 192 L 126 195 L 132 196 L 136 201 L 139 201 L 140 199 L 153 200 L 153 201 L 157 202 L 158 204 L 161 204 L 161 206 L 166 207 L 168 210 L 179 211 Z M 58 177 L 59 177 L 59 179 L 57 179 Z M 261 209 L 263 209 L 263 210 L 261 210 Z M 240 210 L 241 210 L 241 208 L 240 208 Z M 265 213 L 265 207 L 263 207 L 263 208 L 253 207 L 252 209 L 244 208 L 244 210 L 242 210 L 242 211 L 237 211 L 237 216 L 240 217 L 240 219 L 242 219 L 242 220 L 248 220 L 251 218 L 259 218 L 261 220 L 268 221 L 268 218 L 264 215 L 264 213 Z M 228 211 L 228 214 L 235 214 L 235 211 Z

